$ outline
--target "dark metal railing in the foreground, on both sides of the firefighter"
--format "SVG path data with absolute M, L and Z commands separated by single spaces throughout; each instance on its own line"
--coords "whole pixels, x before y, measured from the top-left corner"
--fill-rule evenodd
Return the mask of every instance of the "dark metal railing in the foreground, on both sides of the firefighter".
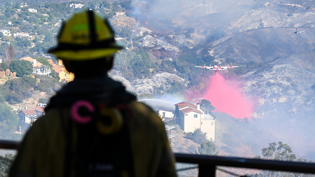
M 0 149 L 18 149 L 19 145 L 20 145 L 19 141 L 6 140 L 0 141 Z M 198 164 L 199 177 L 215 176 L 217 166 L 255 168 L 262 170 L 265 169 L 315 174 L 314 163 L 285 162 L 261 159 L 246 159 L 238 157 L 219 157 L 178 153 L 175 153 L 175 157 L 176 162 Z

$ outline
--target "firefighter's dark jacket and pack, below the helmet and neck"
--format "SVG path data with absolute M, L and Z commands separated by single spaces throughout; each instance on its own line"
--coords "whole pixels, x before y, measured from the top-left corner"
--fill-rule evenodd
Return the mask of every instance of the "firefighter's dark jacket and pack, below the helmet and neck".
M 83 102 L 93 109 L 74 110 L 91 118 L 89 123 L 72 119 L 73 105 Z M 99 126 L 95 117 L 109 109 L 113 119 L 101 120 Z M 106 132 L 116 121 L 115 112 L 123 123 Z M 26 133 L 9 176 L 168 177 L 176 176 L 174 161 L 161 118 L 121 83 L 109 77 L 75 79 L 50 100 L 46 114 Z

